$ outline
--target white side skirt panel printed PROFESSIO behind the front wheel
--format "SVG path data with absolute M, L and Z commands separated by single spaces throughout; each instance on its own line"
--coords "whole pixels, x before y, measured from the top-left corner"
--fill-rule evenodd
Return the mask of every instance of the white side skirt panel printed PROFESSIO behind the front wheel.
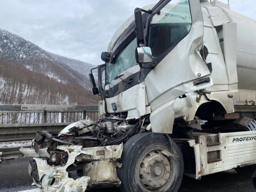
M 195 143 L 195 140 L 189 141 L 189 145 L 194 148 L 196 158 L 196 175 L 191 177 L 200 178 L 238 166 L 256 164 L 256 131 L 219 133 L 218 138 L 219 145 L 208 147 L 207 135 L 200 135 L 198 143 Z M 210 151 L 220 151 L 221 161 L 208 163 L 207 152 Z M 199 171 L 201 174 L 198 174 Z

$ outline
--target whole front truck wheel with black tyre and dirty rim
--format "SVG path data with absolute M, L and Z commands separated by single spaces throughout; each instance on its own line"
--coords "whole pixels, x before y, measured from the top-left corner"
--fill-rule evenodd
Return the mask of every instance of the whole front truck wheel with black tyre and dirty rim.
M 174 156 L 166 156 L 166 150 Z M 178 145 L 165 134 L 144 132 L 129 139 L 117 169 L 122 192 L 176 192 L 184 172 Z

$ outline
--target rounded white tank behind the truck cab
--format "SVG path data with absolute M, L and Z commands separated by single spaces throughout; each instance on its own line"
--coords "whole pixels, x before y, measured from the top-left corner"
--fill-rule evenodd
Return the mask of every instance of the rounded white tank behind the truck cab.
M 238 89 L 256 90 L 256 20 L 223 8 L 231 23 L 237 23 Z

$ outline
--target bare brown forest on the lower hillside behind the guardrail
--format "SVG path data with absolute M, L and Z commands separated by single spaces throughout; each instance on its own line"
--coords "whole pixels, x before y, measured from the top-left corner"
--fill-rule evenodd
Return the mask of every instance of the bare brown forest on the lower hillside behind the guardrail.
M 0 57 L 0 104 L 98 104 L 100 98 L 91 90 L 80 85 L 64 84 L 46 75 Z

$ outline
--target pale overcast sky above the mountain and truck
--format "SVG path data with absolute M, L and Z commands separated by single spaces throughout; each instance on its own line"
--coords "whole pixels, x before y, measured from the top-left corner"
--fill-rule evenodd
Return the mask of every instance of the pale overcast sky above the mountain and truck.
M 49 52 L 99 65 L 101 52 L 134 9 L 157 1 L 0 0 L 0 28 Z M 230 7 L 256 19 L 255 0 L 230 0 Z

